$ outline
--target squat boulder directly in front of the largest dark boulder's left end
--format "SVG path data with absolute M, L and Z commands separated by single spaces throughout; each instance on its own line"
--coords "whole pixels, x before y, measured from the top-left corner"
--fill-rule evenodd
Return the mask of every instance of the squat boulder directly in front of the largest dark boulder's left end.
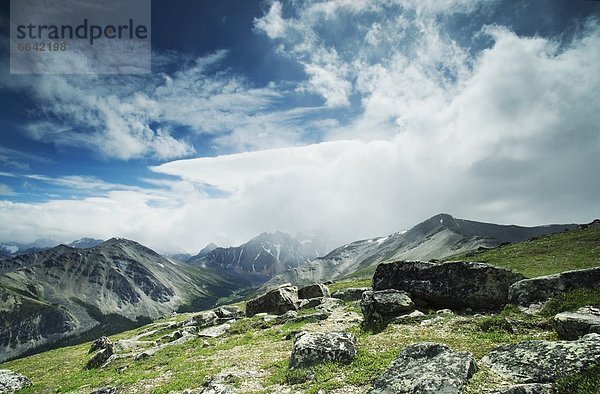
M 360 308 L 367 324 L 389 322 L 415 309 L 408 294 L 400 290 L 365 291 L 362 297 Z

